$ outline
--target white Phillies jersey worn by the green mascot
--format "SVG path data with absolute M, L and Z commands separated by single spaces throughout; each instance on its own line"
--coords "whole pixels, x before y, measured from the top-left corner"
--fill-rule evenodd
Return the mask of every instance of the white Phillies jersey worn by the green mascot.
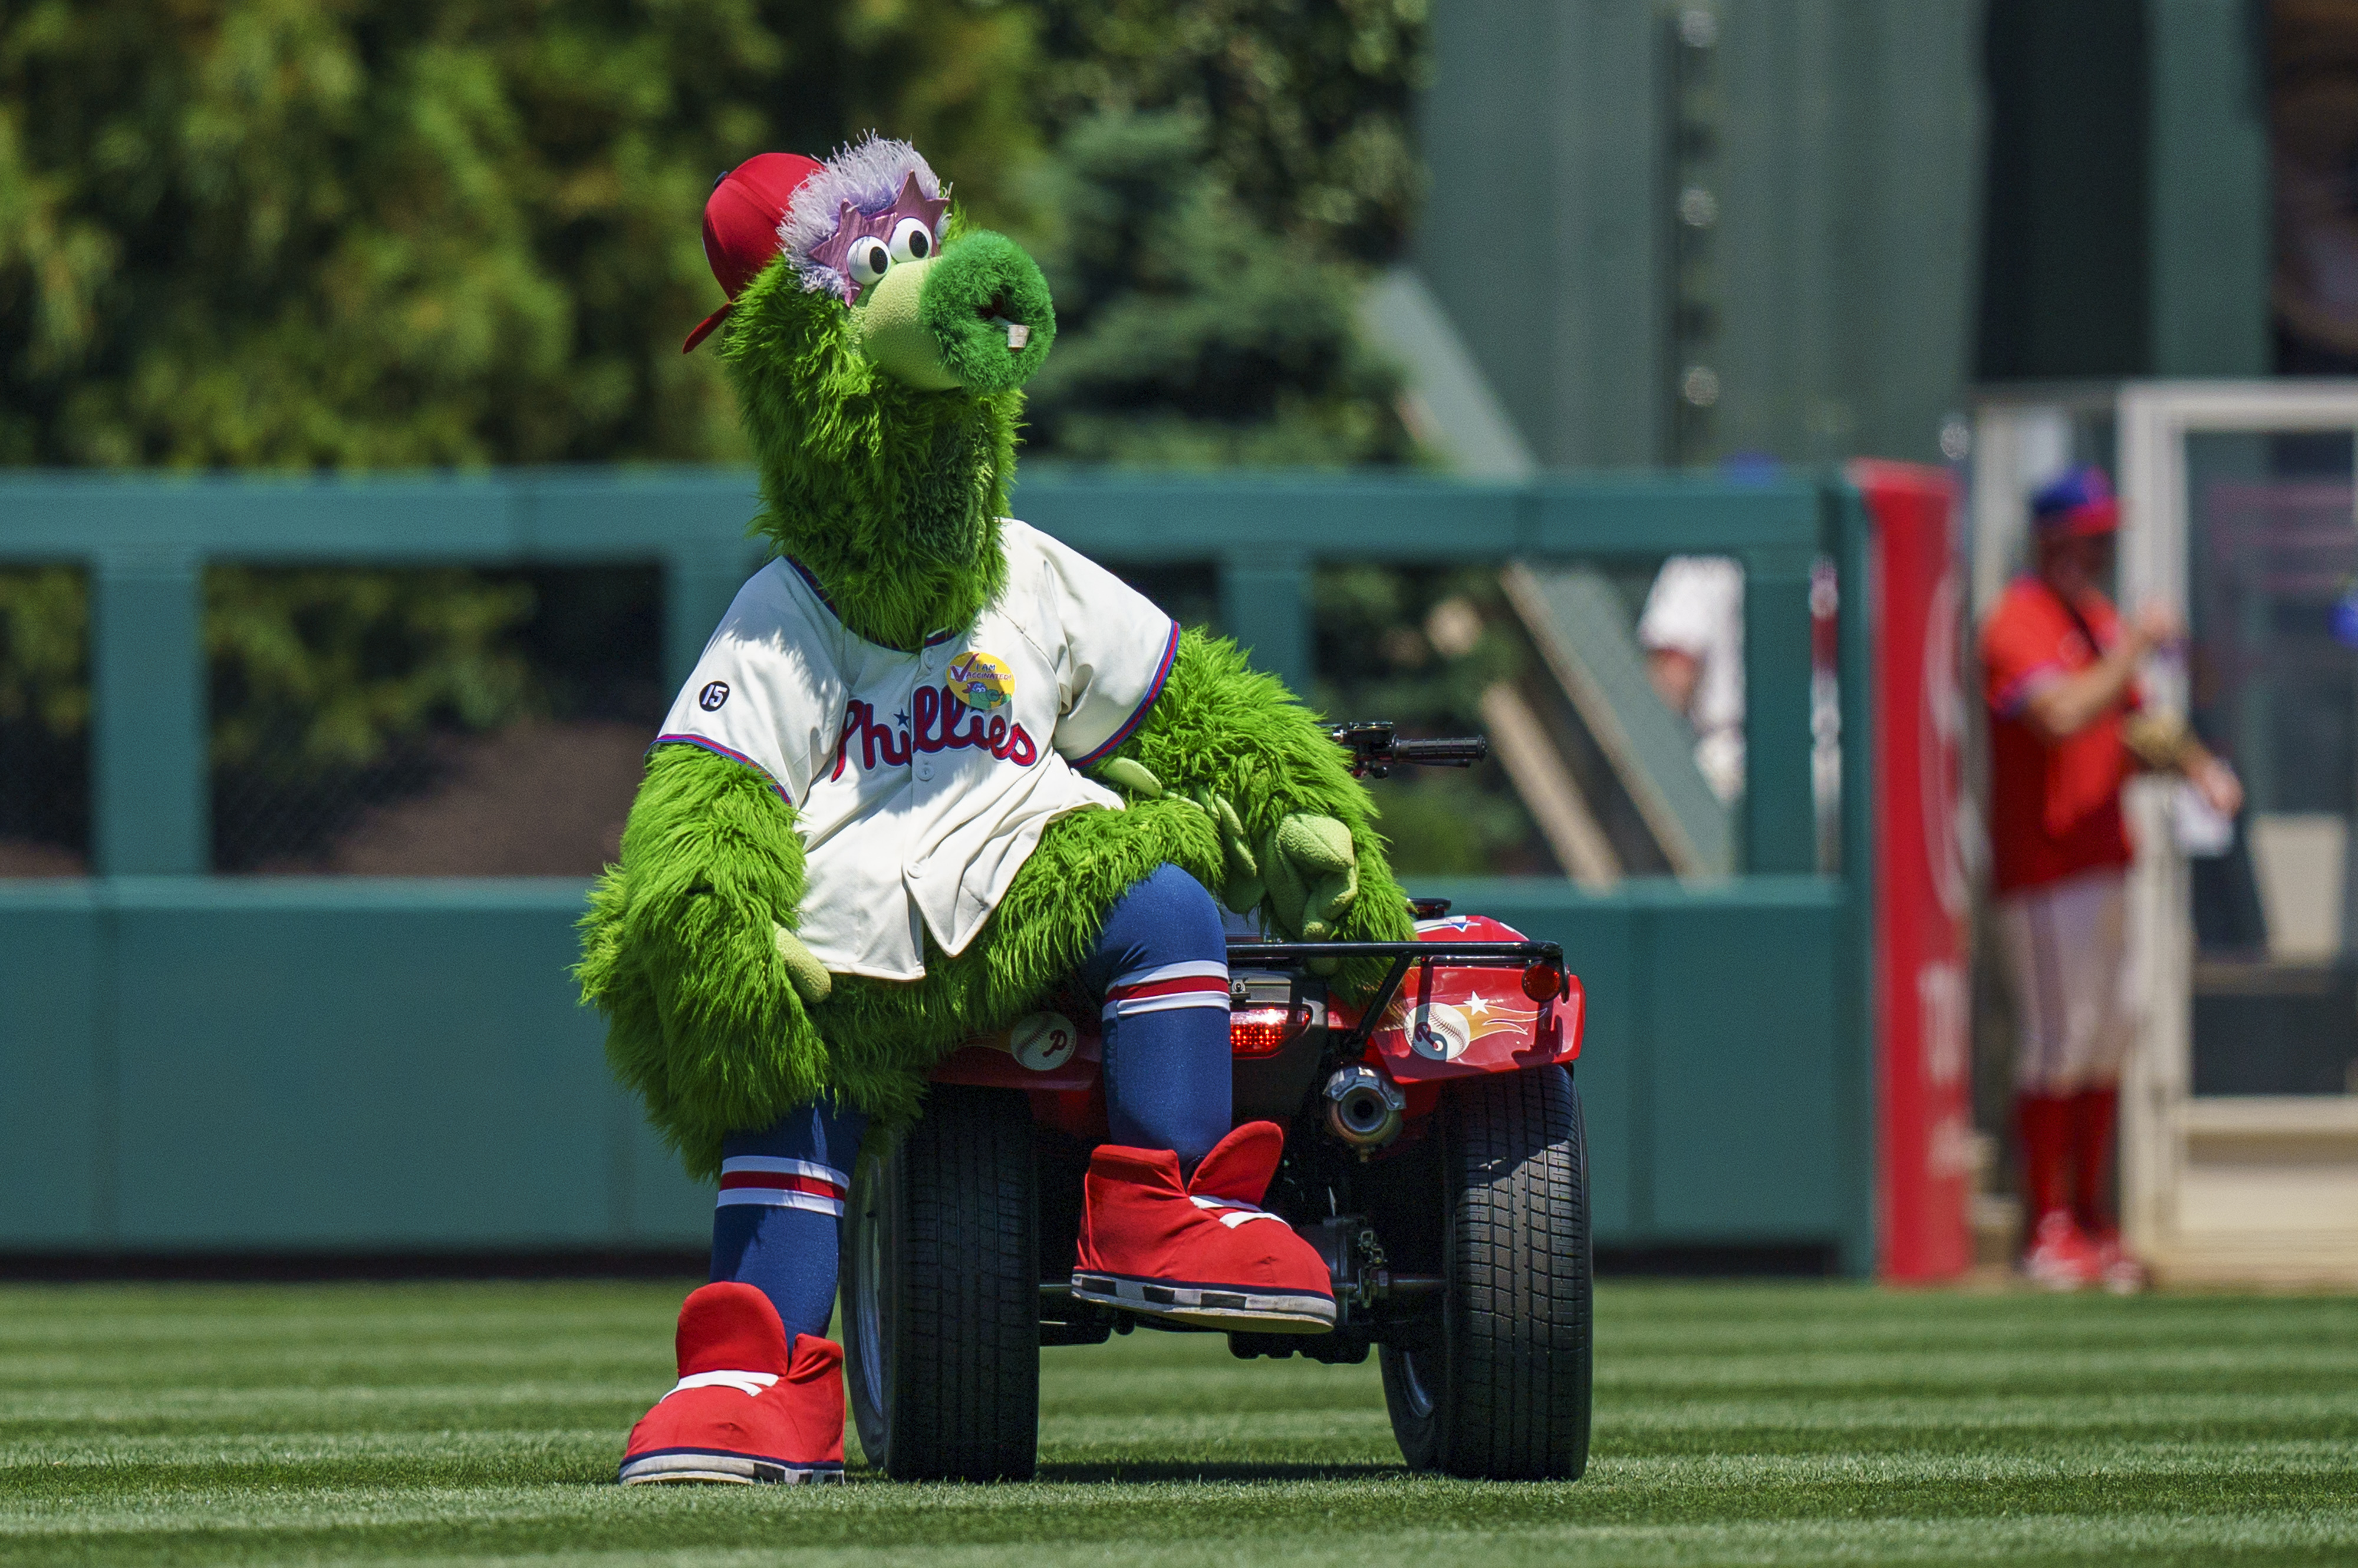
M 1026 523 L 1000 547 L 1007 589 L 917 653 L 854 637 L 816 578 L 771 561 L 656 738 L 759 769 L 795 806 L 797 936 L 835 974 L 920 979 L 924 931 L 964 953 L 1052 821 L 1122 809 L 1078 769 L 1146 717 L 1179 627 Z

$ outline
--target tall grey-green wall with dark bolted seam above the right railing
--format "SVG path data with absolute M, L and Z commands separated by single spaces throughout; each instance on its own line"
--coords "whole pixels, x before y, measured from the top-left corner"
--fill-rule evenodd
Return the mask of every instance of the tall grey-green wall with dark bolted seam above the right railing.
M 1679 42 L 1686 12 L 1717 19 L 1707 47 Z M 1412 255 L 1533 455 L 1936 460 L 1971 375 L 1981 19 L 1436 2 Z M 1710 196 L 1700 229 L 1686 189 Z M 1710 408 L 1674 406 L 1691 368 Z

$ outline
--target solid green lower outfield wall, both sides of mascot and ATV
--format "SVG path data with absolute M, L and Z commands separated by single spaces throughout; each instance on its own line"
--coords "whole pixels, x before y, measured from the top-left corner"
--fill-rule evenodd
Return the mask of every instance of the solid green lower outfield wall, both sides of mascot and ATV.
M 1842 884 L 1429 889 L 1559 941 L 1603 1245 L 1844 1243 Z M 573 882 L 0 887 L 0 1250 L 698 1247 L 566 967 Z M 1863 1264 L 1863 1254 L 1853 1254 Z

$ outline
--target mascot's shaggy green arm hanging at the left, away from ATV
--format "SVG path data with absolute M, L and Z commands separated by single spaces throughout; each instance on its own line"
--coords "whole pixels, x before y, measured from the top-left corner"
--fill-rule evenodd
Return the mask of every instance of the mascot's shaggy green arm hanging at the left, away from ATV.
M 582 917 L 582 1000 L 606 1014 L 606 1059 L 646 1101 L 689 1174 L 719 1172 L 722 1137 L 814 1099 L 828 1052 L 804 1014 L 778 927 L 802 908 L 795 811 L 745 764 L 665 745 L 646 764 L 611 865 Z

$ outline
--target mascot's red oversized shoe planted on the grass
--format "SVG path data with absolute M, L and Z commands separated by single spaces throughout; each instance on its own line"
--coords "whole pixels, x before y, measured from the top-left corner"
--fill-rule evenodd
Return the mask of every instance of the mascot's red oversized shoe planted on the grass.
M 717 1283 L 679 1309 L 679 1384 L 630 1429 L 623 1485 L 648 1481 L 842 1481 L 844 1349 L 785 1346 L 778 1309 Z

